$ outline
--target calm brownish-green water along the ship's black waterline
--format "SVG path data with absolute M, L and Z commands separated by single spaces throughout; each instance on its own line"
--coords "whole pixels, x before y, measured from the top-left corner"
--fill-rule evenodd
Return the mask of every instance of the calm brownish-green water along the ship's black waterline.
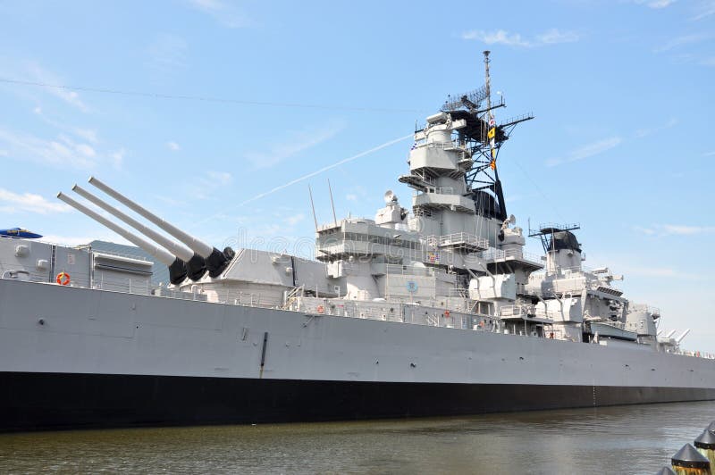
M 715 402 L 4 434 L 0 472 L 655 473 L 712 420 Z

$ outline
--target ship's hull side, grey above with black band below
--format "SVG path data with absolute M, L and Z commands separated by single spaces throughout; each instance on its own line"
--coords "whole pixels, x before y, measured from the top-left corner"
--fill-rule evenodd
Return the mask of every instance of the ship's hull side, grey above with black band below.
M 0 279 L 0 429 L 715 399 L 711 360 Z

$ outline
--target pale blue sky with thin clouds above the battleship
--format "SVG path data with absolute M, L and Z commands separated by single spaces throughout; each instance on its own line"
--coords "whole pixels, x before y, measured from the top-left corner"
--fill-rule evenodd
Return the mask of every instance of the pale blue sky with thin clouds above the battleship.
M 216 246 L 309 254 L 307 185 L 319 221 L 327 179 L 339 216 L 372 217 L 388 188 L 409 205 L 398 139 L 483 83 L 488 48 L 498 119 L 536 116 L 500 154 L 508 211 L 525 228 L 580 222 L 588 265 L 625 274 L 663 328 L 715 352 L 712 0 L 28 1 L 0 15 L 0 227 L 121 241 L 55 199 L 96 174 Z

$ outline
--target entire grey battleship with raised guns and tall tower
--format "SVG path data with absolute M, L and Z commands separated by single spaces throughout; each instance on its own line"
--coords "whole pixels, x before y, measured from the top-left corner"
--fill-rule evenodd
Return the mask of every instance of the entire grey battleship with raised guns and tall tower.
M 489 67 L 416 128 L 411 208 L 316 221 L 315 259 L 217 249 L 97 177 L 58 197 L 151 259 L 0 237 L 0 430 L 715 399 L 711 355 L 585 268 L 577 224 L 507 212 L 499 154 L 533 116 L 496 121 Z

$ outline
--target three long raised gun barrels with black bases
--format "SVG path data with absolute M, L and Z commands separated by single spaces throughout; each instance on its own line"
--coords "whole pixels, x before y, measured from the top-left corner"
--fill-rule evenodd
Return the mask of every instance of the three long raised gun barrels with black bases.
M 122 226 L 107 220 L 104 216 L 92 211 L 87 206 L 78 203 L 70 196 L 59 193 L 57 197 L 63 200 L 64 203 L 70 204 L 76 210 L 86 214 L 89 218 L 103 224 L 106 228 L 112 229 L 114 232 L 124 237 L 135 246 L 141 247 L 148 254 L 155 257 L 157 261 L 167 265 L 169 267 L 169 280 L 172 284 L 181 284 L 181 282 L 187 277 L 191 280 L 201 279 L 206 275 L 206 272 L 208 272 L 209 277 L 218 277 L 225 270 L 226 266 L 228 266 L 229 262 L 231 262 L 231 259 L 234 256 L 234 252 L 231 247 L 226 247 L 223 251 L 219 251 L 214 246 L 207 245 L 197 237 L 193 237 L 181 229 L 173 226 L 171 223 L 159 218 L 153 212 L 148 211 L 143 206 L 130 200 L 127 196 L 122 195 L 113 187 L 109 187 L 103 181 L 95 177 L 90 177 L 88 181 L 94 187 L 104 191 L 106 195 L 112 196 L 116 201 L 124 204 L 133 212 L 137 212 L 140 216 L 146 218 L 147 221 L 151 221 L 158 228 L 163 229 L 172 237 L 179 239 L 179 241 L 181 241 L 181 243 L 185 246 L 162 236 L 156 232 L 156 230 L 149 228 L 141 222 L 131 218 L 126 213 L 121 212 L 110 204 L 107 204 L 99 197 L 92 195 L 78 185 L 74 185 L 74 187 L 72 187 L 72 190 L 75 193 L 86 198 L 89 202 L 97 204 L 97 206 L 129 224 L 132 228 L 139 230 L 140 233 L 149 237 L 154 241 L 154 243 L 158 243 L 160 246 L 156 246 L 154 243 L 122 228 Z

